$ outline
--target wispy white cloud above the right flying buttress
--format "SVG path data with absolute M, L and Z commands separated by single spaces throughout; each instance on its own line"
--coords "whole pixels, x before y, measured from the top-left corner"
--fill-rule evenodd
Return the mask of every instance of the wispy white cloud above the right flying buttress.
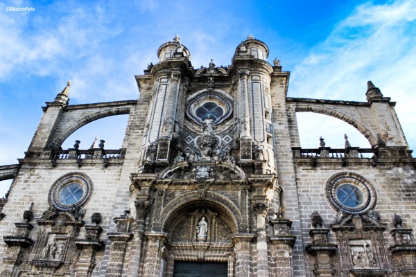
M 372 80 L 398 102 L 399 120 L 416 149 L 416 1 L 358 6 L 292 76 L 289 96 L 358 101 L 365 101 Z

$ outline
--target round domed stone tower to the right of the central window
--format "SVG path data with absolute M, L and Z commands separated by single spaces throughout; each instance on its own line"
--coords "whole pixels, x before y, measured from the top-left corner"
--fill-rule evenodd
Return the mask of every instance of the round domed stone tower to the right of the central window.
M 241 161 L 267 161 L 264 172 L 275 172 L 268 46 L 252 35 L 239 44 L 233 66 L 239 78 L 238 118 L 241 124 Z

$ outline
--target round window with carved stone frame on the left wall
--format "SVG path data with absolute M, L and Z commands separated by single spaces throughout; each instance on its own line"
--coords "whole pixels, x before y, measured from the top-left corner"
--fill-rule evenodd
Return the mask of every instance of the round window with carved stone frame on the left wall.
M 49 204 L 61 210 L 84 206 L 92 195 L 92 181 L 81 172 L 60 177 L 49 190 Z

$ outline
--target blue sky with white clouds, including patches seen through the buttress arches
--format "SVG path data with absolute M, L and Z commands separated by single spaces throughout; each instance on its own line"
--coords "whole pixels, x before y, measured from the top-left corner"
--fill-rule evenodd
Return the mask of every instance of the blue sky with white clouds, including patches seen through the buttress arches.
M 33 7 L 8 12 L 7 7 Z M 3 1 L 0 3 L 0 164 L 24 157 L 45 101 L 71 80 L 70 104 L 137 99 L 136 74 L 180 35 L 192 64 L 231 64 L 249 34 L 268 44 L 269 62 L 291 71 L 288 96 L 365 101 L 367 80 L 397 101 L 416 146 L 416 1 Z M 302 147 L 368 146 L 354 128 L 298 114 Z M 107 121 L 105 121 L 107 120 Z M 103 119 L 74 134 L 120 148 L 127 118 Z M 1 184 L 1 183 L 0 183 Z

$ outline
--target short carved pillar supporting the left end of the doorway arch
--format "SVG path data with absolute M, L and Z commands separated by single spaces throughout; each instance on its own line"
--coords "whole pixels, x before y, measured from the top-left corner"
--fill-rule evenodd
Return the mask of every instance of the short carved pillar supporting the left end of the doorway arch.
M 162 247 L 166 244 L 166 233 L 148 232 L 146 257 L 144 258 L 144 277 L 159 277 L 162 265 Z

